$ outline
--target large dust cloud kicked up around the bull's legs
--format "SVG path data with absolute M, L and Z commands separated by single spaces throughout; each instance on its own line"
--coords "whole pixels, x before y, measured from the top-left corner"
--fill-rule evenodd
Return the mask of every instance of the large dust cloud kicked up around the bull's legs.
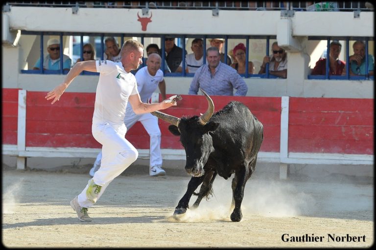
M 213 184 L 214 195 L 205 198 L 196 209 L 187 209 L 182 215 L 170 216 L 170 222 L 231 221 L 232 179 L 217 178 Z M 199 188 L 197 189 L 197 191 Z M 184 193 L 180 196 L 183 196 Z M 192 196 L 189 206 L 195 202 Z M 178 201 L 176 202 L 178 204 Z M 298 190 L 294 185 L 280 181 L 248 180 L 241 204 L 244 216 L 293 217 L 312 214 L 316 201 L 314 197 Z

